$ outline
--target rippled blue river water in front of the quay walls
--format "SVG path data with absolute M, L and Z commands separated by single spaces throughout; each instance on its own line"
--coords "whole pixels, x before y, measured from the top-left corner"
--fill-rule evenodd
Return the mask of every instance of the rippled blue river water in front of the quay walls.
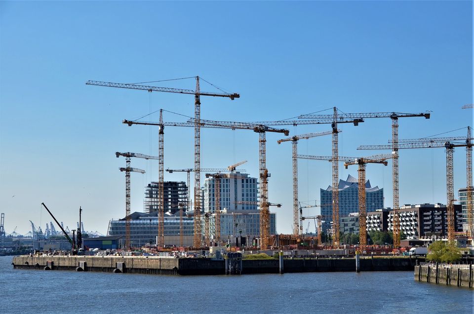
M 0 313 L 474 313 L 474 292 L 413 272 L 158 276 L 13 270 Z

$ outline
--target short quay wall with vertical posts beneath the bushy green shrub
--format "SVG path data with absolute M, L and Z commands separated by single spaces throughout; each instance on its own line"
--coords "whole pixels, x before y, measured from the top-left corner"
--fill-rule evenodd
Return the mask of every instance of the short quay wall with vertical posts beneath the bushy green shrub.
M 424 264 L 415 267 L 415 280 L 457 287 L 474 287 L 473 266 Z

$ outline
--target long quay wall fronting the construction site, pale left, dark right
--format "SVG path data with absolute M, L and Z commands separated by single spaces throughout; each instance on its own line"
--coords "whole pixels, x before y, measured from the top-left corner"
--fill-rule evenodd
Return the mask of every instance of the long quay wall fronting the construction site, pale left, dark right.
M 361 258 L 360 271 L 413 271 L 424 258 Z M 16 256 L 15 269 L 66 270 L 156 275 L 224 275 L 224 260 L 155 256 Z M 417 266 L 418 267 L 418 266 Z M 354 272 L 354 258 L 284 259 L 284 273 Z M 242 274 L 278 274 L 279 261 L 242 260 Z M 464 274 L 464 273 L 463 273 Z

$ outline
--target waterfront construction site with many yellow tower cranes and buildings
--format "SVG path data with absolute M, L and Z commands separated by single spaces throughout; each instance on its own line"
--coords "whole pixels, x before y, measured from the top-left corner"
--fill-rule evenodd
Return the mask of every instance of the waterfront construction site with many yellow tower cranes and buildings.
M 131 152 L 116 152 L 117 158 L 124 157 L 125 165 L 119 170 L 125 174 L 125 210 L 124 218 L 111 221 L 109 223 L 109 231 L 107 237 L 100 237 L 98 233 L 87 233 L 90 240 L 96 239 L 99 243 L 104 241 L 105 246 L 100 249 L 114 249 L 120 251 L 121 255 L 133 255 L 138 252 L 147 252 L 153 255 L 172 255 L 184 257 L 184 252 L 198 252 L 186 254 L 186 256 L 207 256 L 213 255 L 215 257 L 216 248 L 225 248 L 229 252 L 243 252 L 243 251 L 268 251 L 272 255 L 272 250 L 294 251 L 294 250 L 313 250 L 312 253 L 303 254 L 311 256 L 316 254 L 316 250 L 325 250 L 322 255 L 354 255 L 356 250 L 366 255 L 387 255 L 387 254 L 403 254 L 407 251 L 407 245 L 400 244 L 400 215 L 402 209 L 399 205 L 399 156 L 398 151 L 401 149 L 435 149 L 442 148 L 446 151 L 446 210 L 445 230 L 441 230 L 436 234 L 437 238 L 442 238 L 447 241 L 456 241 L 463 239 L 465 245 L 472 246 L 472 239 L 474 234 L 473 227 L 473 183 L 472 183 L 472 134 L 471 128 L 467 127 L 467 135 L 462 137 L 442 137 L 442 138 L 412 138 L 399 139 L 399 119 L 400 118 L 419 118 L 430 119 L 429 112 L 422 113 L 397 113 L 397 112 L 369 112 L 369 113 L 342 113 L 338 108 L 332 108 L 331 114 L 323 115 L 300 115 L 297 119 L 292 120 L 278 120 L 278 121 L 219 121 L 207 120 L 200 116 L 201 96 L 220 97 L 229 100 L 237 100 L 240 95 L 238 93 L 227 92 L 202 92 L 200 91 L 200 78 L 195 77 L 196 88 L 192 89 L 178 89 L 170 87 L 157 87 L 149 85 L 128 84 L 128 83 L 113 83 L 105 81 L 86 82 L 87 85 L 115 87 L 135 89 L 139 91 L 152 92 L 167 92 L 177 94 L 189 94 L 194 97 L 194 118 L 190 118 L 186 122 L 172 122 L 165 121 L 163 118 L 164 110 L 159 111 L 159 121 L 149 122 L 144 120 L 129 120 L 124 119 L 123 124 L 132 125 L 148 125 L 158 126 L 158 156 L 149 156 L 140 153 Z M 473 105 L 466 105 L 463 109 L 470 110 Z M 392 139 L 389 145 L 370 145 L 359 146 L 358 150 L 386 150 L 389 154 L 379 154 L 371 156 L 357 156 L 344 157 L 339 155 L 340 144 L 338 141 L 339 133 L 338 126 L 341 124 L 348 124 L 357 126 L 360 123 L 369 124 L 371 119 L 386 118 L 391 120 Z M 402 119 L 403 120 L 403 119 Z M 296 125 L 329 125 L 331 130 L 307 133 L 300 135 L 289 136 L 289 130 L 284 128 Z M 194 167 L 183 169 L 166 169 L 171 174 L 173 172 L 186 172 L 187 182 L 172 183 L 164 180 L 164 130 L 168 127 L 188 127 L 194 128 Z M 237 169 L 237 167 L 244 164 L 247 160 L 237 162 L 229 165 L 227 168 L 201 168 L 201 128 L 211 129 L 241 129 L 250 130 L 258 134 L 258 165 L 259 173 L 257 178 L 251 178 L 244 173 L 245 170 Z M 217 132 L 218 130 L 216 130 Z M 292 234 L 277 234 L 275 227 L 275 213 L 270 212 L 270 207 L 281 207 L 281 204 L 272 203 L 268 196 L 268 185 L 270 173 L 267 169 L 267 133 L 279 133 L 285 138 L 275 140 L 277 144 L 290 142 L 292 145 L 292 214 L 293 214 L 293 233 Z M 309 156 L 298 154 L 298 142 L 300 140 L 309 140 L 320 136 L 330 135 L 332 137 L 331 150 L 332 156 Z M 272 140 L 273 141 L 273 140 Z M 283 144 L 281 146 L 284 146 Z M 454 148 L 463 147 L 466 149 L 466 215 L 455 211 L 456 201 L 453 187 L 453 152 Z M 362 155 L 362 154 L 361 154 Z M 147 160 L 158 160 L 158 181 L 152 182 L 147 188 L 147 201 L 144 203 L 145 213 L 131 213 L 130 212 L 130 182 L 131 173 L 145 173 L 145 170 L 134 168 L 131 166 L 131 160 L 134 158 L 142 158 Z M 257 157 L 256 157 L 257 159 Z M 328 204 L 308 205 L 302 204 L 298 197 L 298 159 L 314 159 L 325 160 L 331 163 L 332 168 L 332 187 L 331 199 Z M 339 193 L 340 178 L 339 178 L 339 162 L 344 162 L 346 168 L 357 166 L 358 177 L 356 183 L 358 185 L 358 243 L 348 245 L 341 241 L 340 222 L 340 200 Z M 368 242 L 367 230 L 367 208 L 366 208 L 366 177 L 365 169 L 367 164 L 381 164 L 387 166 L 389 162 L 392 165 L 392 181 L 393 181 L 393 207 L 390 209 L 389 228 L 388 230 L 393 234 L 393 243 L 385 243 L 385 245 L 374 245 Z M 191 173 L 194 174 L 194 189 L 191 194 Z M 202 178 L 205 177 L 205 182 L 202 184 Z M 355 179 L 354 179 L 355 180 Z M 240 186 L 241 183 L 241 186 Z M 174 184 L 174 185 L 173 185 Z M 174 194 L 175 201 L 171 201 L 171 185 L 173 185 L 176 192 Z M 288 189 L 290 184 L 288 184 Z M 179 189 L 177 188 L 179 186 Z M 370 187 L 370 186 L 369 186 Z M 165 191 L 166 188 L 166 191 Z M 227 190 L 226 190 L 227 189 Z M 246 190 L 247 189 L 247 190 Z M 230 191 L 235 194 L 232 194 Z M 178 192 L 179 191 L 179 192 Z M 237 192 L 238 191 L 238 192 Z M 329 191 L 329 190 L 328 190 Z M 231 197 L 222 197 L 223 193 L 231 195 Z M 241 194 L 245 198 L 237 197 Z M 229 199 L 230 198 L 230 199 Z M 44 205 L 44 204 L 43 204 Z M 303 208 L 330 206 L 332 215 L 311 215 L 304 216 Z M 44 205 L 45 207 L 45 205 Z M 49 211 L 49 210 L 48 210 Z M 51 214 L 51 213 L 50 213 Z M 2 214 L 3 215 L 3 214 Z M 404 214 L 403 214 L 404 215 Z M 51 214 L 52 216 L 52 214 Z M 79 215 L 80 216 L 80 215 Z M 54 218 L 54 216 L 52 216 Z M 54 218 L 55 219 L 55 218 Z M 80 221 L 80 218 L 79 218 Z M 304 231 L 304 224 L 308 221 L 314 221 L 316 233 L 310 234 Z M 249 225 L 255 225 L 255 228 L 249 228 Z M 325 224 L 326 228 L 323 228 Z M 404 224 L 404 223 L 402 223 Z M 52 236 L 64 234 L 70 238 L 71 234 L 74 241 L 69 241 L 72 249 L 76 252 L 80 248 L 82 250 L 89 250 L 92 247 L 87 246 L 86 243 L 80 241 L 79 235 L 85 234 L 83 226 L 72 232 L 68 227 L 59 226 L 62 230 L 57 232 L 53 223 L 46 224 L 46 231 L 43 233 L 40 227 L 35 227 L 31 222 L 32 231 L 26 236 L 34 240 L 48 239 Z M 463 225 L 467 228 L 463 229 Z M 146 235 L 131 236 L 137 234 L 138 229 L 144 229 Z M 247 229 L 245 229 L 247 228 Z M 444 227 L 443 227 L 444 228 Z M 10 236 L 6 236 L 3 231 L 3 216 L 2 238 L 21 237 L 13 232 Z M 133 230 L 133 231 L 132 231 Z M 76 235 L 75 235 L 75 232 Z M 1 236 L 1 234 L 0 234 Z M 109 237 L 114 237 L 110 239 Z M 436 237 L 433 236 L 432 240 Z M 111 244 L 112 240 L 116 241 Z M 0 243 L 4 243 L 3 242 Z M 91 244 L 91 242 L 89 242 Z M 99 245 L 100 246 L 100 245 Z M 47 246 L 44 246 L 47 247 Z M 42 247 L 42 248 L 44 248 Z M 97 246 L 96 246 L 97 248 Z M 214 248 L 214 250 L 212 249 Z M 58 248 L 63 249 L 63 247 Z M 343 254 L 337 253 L 339 250 L 346 250 Z M 269 251 L 270 250 L 270 251 Z M 43 250 L 47 251 L 47 250 Z M 135 253 L 133 253 L 135 252 Z M 171 254 L 174 252 L 173 254 Z M 176 253 L 178 253 L 176 255 Z M 163 255 L 165 254 L 165 255 Z M 317 253 L 319 254 L 319 253 Z M 300 255 L 300 254 L 296 254 Z

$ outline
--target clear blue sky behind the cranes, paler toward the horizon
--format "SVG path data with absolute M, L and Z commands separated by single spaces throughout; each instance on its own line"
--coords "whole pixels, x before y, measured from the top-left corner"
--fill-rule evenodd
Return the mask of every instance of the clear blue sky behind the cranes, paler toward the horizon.
M 143 82 L 201 76 L 234 101 L 202 97 L 201 117 L 278 120 L 337 106 L 343 112 L 424 112 L 399 120 L 400 138 L 473 125 L 472 1 L 0 1 L 0 212 L 5 231 L 26 234 L 28 220 L 107 232 L 124 217 L 124 158 L 158 154 L 158 128 L 121 123 L 160 108 L 194 115 L 193 95 L 85 85 L 88 79 Z M 160 83 L 194 89 L 193 79 Z M 159 85 L 158 85 L 159 86 Z M 215 91 L 202 82 L 201 90 Z M 330 112 L 327 112 L 330 113 Z M 185 117 L 165 113 L 167 121 Z M 158 120 L 158 114 L 147 117 Z M 290 135 L 329 130 L 290 127 Z M 364 144 L 386 144 L 390 119 L 341 125 L 340 156 L 368 156 Z M 448 133 L 465 135 L 466 129 Z M 291 144 L 267 134 L 269 200 L 282 203 L 278 233 L 292 232 Z M 165 168 L 194 166 L 194 130 L 165 128 Z M 330 136 L 300 141 L 299 153 L 330 155 Z M 454 188 L 466 186 L 465 149 L 455 152 Z M 242 166 L 258 177 L 258 135 L 202 129 L 201 167 Z M 400 204 L 446 203 L 445 152 L 400 151 Z M 135 158 L 132 211 L 158 163 Z M 340 165 L 340 178 L 357 176 Z M 367 166 L 372 186 L 392 206 L 392 167 Z M 165 180 L 186 180 L 185 173 Z M 201 179 L 203 181 L 203 178 Z M 317 200 L 331 184 L 331 165 L 299 162 L 299 198 Z M 192 184 L 193 186 L 193 184 Z M 305 215 L 318 214 L 307 209 Z M 306 229 L 306 226 L 305 226 Z M 310 227 L 314 231 L 314 226 Z

